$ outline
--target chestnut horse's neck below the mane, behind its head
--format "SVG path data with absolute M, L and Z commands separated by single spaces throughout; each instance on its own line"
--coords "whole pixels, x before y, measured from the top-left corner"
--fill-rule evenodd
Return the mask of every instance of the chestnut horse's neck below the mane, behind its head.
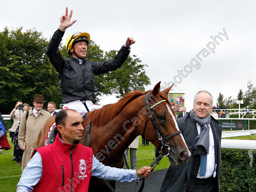
M 104 157 L 102 162 L 107 165 L 121 160 L 124 151 L 139 135 L 137 127 L 134 126 L 134 118 L 139 111 L 126 106 L 106 125 L 92 128 L 95 129 L 94 134 L 92 134 L 92 142 L 97 141 L 97 145 L 92 143 L 96 158 L 102 154 L 101 157 Z

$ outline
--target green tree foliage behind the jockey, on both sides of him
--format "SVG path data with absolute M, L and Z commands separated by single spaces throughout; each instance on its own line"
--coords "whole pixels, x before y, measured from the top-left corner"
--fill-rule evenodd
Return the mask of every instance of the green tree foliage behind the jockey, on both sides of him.
M 43 95 L 47 102 L 55 102 L 56 108 L 62 103 L 59 74 L 45 54 L 49 40 L 36 29 L 5 27 L 0 32 L 0 112 L 3 114 L 9 114 L 18 100 L 32 105 L 36 94 Z M 63 58 L 71 57 L 65 45 L 60 46 L 60 53 Z M 90 41 L 87 59 L 102 62 L 113 59 L 116 53 L 111 50 L 104 54 L 100 46 Z M 94 103 L 103 94 L 116 93 L 122 97 L 130 90 L 144 91 L 144 86 L 150 83 L 144 67 L 139 58 L 129 56 L 118 71 L 95 76 Z

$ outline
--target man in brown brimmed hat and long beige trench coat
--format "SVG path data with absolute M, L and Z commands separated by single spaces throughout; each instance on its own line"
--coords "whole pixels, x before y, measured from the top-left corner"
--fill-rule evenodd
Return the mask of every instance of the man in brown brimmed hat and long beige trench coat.
M 24 150 L 22 157 L 22 167 L 23 171 L 27 167 L 34 149 L 37 147 L 35 142 L 39 132 L 45 121 L 51 117 L 51 114 L 42 109 L 44 105 L 44 98 L 42 95 L 35 95 L 33 105 L 30 110 L 22 115 L 20 120 L 20 130 L 18 135 L 18 143 L 21 150 Z

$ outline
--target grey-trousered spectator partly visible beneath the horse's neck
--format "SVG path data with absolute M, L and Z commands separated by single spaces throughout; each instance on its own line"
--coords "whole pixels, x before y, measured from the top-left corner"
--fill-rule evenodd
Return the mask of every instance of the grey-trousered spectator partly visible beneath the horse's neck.
M 128 150 L 130 149 L 130 163 L 131 169 L 135 170 L 137 166 L 137 158 L 136 158 L 136 151 L 139 148 L 139 136 L 135 138 L 135 140 L 129 145 L 129 147 L 125 150 L 125 158 L 127 160 L 128 157 Z M 123 169 L 125 169 L 126 164 L 124 163 Z M 127 167 L 128 168 L 128 167 Z

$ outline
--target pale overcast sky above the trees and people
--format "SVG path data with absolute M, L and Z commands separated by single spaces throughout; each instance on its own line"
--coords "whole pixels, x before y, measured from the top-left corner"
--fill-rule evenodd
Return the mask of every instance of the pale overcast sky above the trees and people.
M 2 1 L 0 29 L 35 28 L 50 38 L 66 6 L 73 9 L 77 22 L 66 30 L 64 40 L 86 30 L 102 50 L 109 51 L 119 50 L 127 36 L 133 37 L 131 54 L 148 65 L 151 85 L 146 90 L 159 81 L 164 86 L 176 80 L 173 93 L 185 93 L 188 110 L 198 90 L 211 92 L 215 104 L 219 92 L 236 97 L 239 89 L 246 91 L 247 81 L 256 83 L 255 1 Z M 211 39 L 216 35 L 222 38 L 216 38 L 219 45 Z M 212 43 L 210 49 L 206 46 L 209 42 L 215 44 L 213 51 Z M 195 60 L 190 64 L 193 58 L 200 66 Z M 101 104 L 115 101 L 107 96 Z

